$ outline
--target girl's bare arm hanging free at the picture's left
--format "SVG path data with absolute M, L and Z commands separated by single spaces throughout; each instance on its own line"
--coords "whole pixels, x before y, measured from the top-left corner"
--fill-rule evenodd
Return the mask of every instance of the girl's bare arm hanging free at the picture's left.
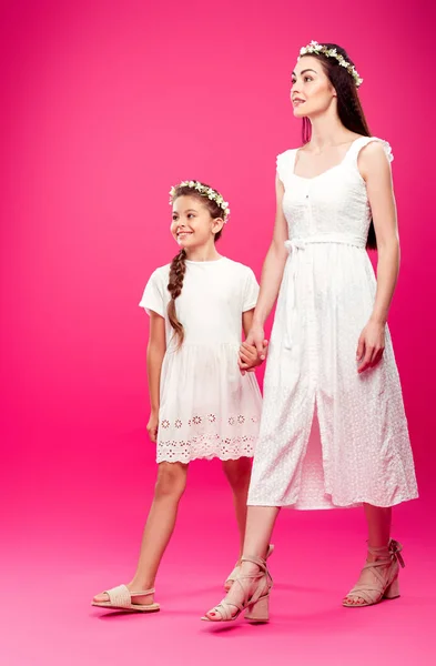
M 146 375 L 149 380 L 150 420 L 146 426 L 150 438 L 158 438 L 161 369 L 166 351 L 165 320 L 155 312 L 150 312 L 150 335 L 146 347 Z

